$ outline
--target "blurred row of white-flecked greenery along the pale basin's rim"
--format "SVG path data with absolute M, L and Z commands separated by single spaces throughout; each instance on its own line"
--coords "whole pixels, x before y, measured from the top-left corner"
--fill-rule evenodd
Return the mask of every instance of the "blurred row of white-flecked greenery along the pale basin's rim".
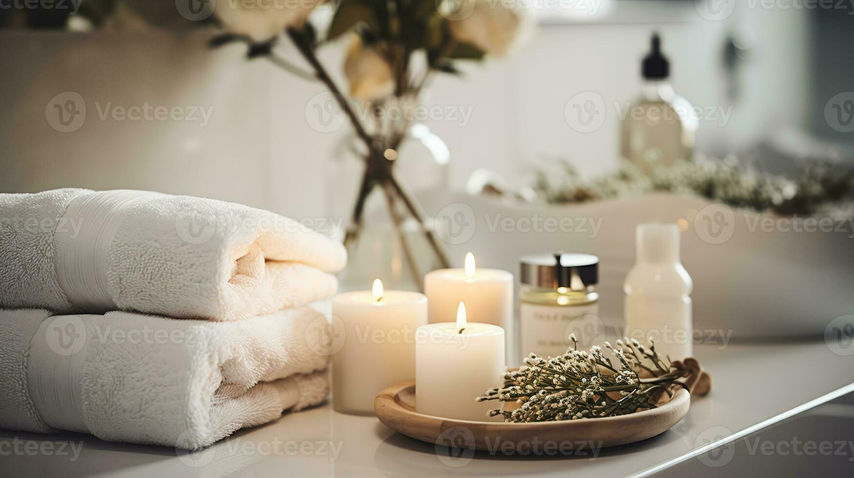
M 648 176 L 626 162 L 617 172 L 585 181 L 565 160 L 549 161 L 536 172 L 533 188 L 555 204 L 599 201 L 653 191 L 692 194 L 732 207 L 809 215 L 820 207 L 852 199 L 854 171 L 850 167 L 812 161 L 791 178 L 760 172 L 734 157 L 699 158 L 659 167 Z

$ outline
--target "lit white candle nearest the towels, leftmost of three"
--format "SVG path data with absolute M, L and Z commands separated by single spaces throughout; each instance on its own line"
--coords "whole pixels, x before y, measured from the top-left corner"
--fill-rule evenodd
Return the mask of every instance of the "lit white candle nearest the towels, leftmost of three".
M 383 388 L 415 376 L 415 332 L 427 324 L 427 298 L 417 292 L 371 290 L 337 294 L 332 299 L 332 405 L 336 411 L 373 415 Z M 337 344 L 336 344 L 337 345 Z

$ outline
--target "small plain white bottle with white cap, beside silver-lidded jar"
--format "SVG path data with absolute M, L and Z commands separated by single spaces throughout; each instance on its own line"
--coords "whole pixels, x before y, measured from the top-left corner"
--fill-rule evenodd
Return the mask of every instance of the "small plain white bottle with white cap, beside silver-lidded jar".
M 693 282 L 679 259 L 679 227 L 638 224 L 636 234 L 637 262 L 623 283 L 626 335 L 641 343 L 652 337 L 662 358 L 691 357 Z

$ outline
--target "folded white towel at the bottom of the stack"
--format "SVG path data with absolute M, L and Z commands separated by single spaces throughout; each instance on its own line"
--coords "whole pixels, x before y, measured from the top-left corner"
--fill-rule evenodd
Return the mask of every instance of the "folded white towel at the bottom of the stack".
M 305 307 L 221 324 L 0 311 L 0 428 L 193 450 L 328 393 Z

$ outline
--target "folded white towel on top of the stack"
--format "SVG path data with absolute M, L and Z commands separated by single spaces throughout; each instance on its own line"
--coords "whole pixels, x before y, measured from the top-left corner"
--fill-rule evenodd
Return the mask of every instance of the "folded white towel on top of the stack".
M 0 194 L 0 308 L 238 320 L 329 298 L 346 262 L 341 243 L 229 202 Z

